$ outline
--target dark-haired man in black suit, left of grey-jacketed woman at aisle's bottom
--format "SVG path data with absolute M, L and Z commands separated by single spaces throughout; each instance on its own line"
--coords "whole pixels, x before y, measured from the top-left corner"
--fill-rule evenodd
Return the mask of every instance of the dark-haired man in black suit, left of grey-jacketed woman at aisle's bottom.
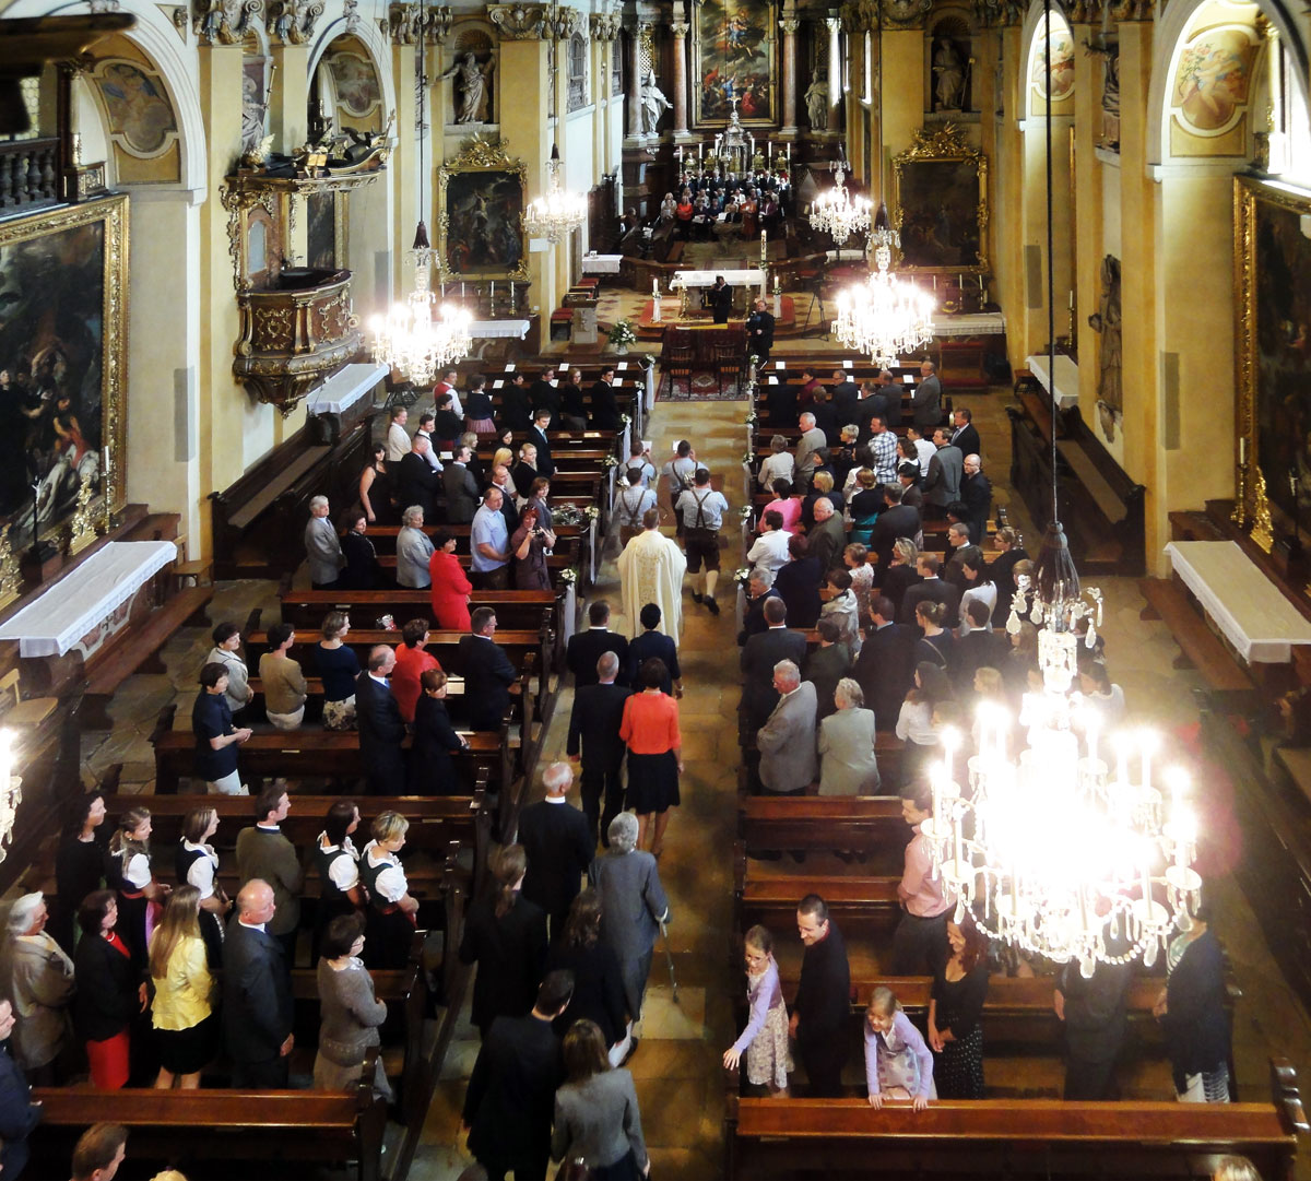
M 461 1122 L 489 1181 L 541 1181 L 551 1156 L 556 1088 L 564 1081 L 551 1022 L 573 996 L 573 973 L 552 971 L 527 1017 L 497 1017 L 479 1050 Z

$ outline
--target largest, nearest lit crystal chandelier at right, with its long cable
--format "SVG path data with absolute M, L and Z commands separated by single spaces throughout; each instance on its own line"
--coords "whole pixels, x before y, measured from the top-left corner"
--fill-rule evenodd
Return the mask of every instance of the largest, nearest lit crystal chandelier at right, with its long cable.
M 1044 18 L 1050 73 L 1051 0 L 1044 3 Z M 1054 372 L 1050 104 L 1045 128 L 1047 372 Z M 1051 413 L 1054 418 L 1054 395 Z M 931 773 L 933 814 L 922 831 L 932 843 L 944 889 L 956 897 L 957 920 L 970 908 L 992 937 L 1058 962 L 1078 961 L 1088 978 L 1099 962 L 1127 963 L 1142 956 L 1151 967 L 1171 932 L 1192 925 L 1202 881 L 1193 869 L 1197 824 L 1183 798 L 1186 779 L 1177 772 L 1168 777 L 1167 807 L 1152 777 L 1158 737 L 1145 730 L 1113 735 L 1112 772 L 1100 716 L 1071 692 L 1079 632 L 1087 630 L 1091 648 L 1101 623 L 1101 594 L 1080 586 L 1058 519 L 1055 438 L 1053 430 L 1051 523 L 1033 577 L 1019 579 L 1007 621 L 1007 630 L 1016 633 L 1027 615 L 1040 629 L 1042 688 L 1024 696 L 1025 746 L 1012 758 L 1009 716 L 985 708 L 962 790 L 953 777 L 960 738 L 947 735 L 945 758 Z

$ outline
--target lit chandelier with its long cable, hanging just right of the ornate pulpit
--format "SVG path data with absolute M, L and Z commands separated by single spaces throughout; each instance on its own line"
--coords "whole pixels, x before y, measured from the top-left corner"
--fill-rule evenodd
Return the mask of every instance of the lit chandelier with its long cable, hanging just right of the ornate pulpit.
M 420 7 L 420 35 L 416 47 L 418 66 L 418 174 L 422 191 L 423 139 L 427 130 L 427 37 L 426 0 Z M 433 246 L 427 237 L 427 224 L 422 215 L 414 228 L 410 246 L 414 262 L 414 290 L 404 303 L 393 304 L 385 316 L 374 316 L 368 326 L 374 333 L 374 360 L 402 374 L 416 385 L 431 385 L 444 367 L 459 360 L 473 347 L 471 325 L 473 317 L 452 304 L 443 304 L 440 319 L 433 319 L 437 298 L 433 295 L 429 267 L 433 265 Z

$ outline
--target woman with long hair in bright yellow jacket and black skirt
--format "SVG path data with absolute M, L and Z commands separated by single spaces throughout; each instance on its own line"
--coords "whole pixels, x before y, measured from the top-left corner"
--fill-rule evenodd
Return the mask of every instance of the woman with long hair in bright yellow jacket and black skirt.
M 151 936 L 152 1021 L 160 1055 L 155 1085 L 168 1091 L 174 1080 L 185 1091 L 201 1085 L 201 1071 L 214 1058 L 218 1021 L 201 936 L 201 891 L 178 886 L 164 906 L 164 918 Z

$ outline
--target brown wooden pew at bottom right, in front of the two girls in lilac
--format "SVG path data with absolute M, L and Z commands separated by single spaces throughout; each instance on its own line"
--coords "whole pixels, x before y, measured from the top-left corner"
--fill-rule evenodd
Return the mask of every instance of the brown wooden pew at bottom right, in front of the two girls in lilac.
M 1201 1178 L 1236 1152 L 1262 1177 L 1293 1181 L 1307 1130 L 1287 1059 L 1272 1059 L 1272 1101 L 1261 1104 L 944 1100 L 876 1112 L 864 1098 L 741 1098 L 735 1074 L 729 1178 Z

